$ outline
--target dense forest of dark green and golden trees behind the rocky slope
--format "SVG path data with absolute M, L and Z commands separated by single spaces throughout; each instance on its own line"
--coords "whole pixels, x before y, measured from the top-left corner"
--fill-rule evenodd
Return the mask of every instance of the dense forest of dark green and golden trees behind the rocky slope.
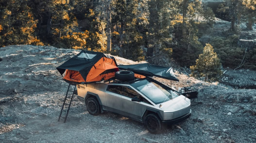
M 208 43 L 224 67 L 256 67 L 256 47 L 238 44 L 242 30 L 253 31 L 255 8 L 256 0 L 224 0 L 217 8 L 230 29 Z M 51 45 L 191 66 L 214 23 L 215 13 L 200 0 L 0 0 L 0 47 Z

